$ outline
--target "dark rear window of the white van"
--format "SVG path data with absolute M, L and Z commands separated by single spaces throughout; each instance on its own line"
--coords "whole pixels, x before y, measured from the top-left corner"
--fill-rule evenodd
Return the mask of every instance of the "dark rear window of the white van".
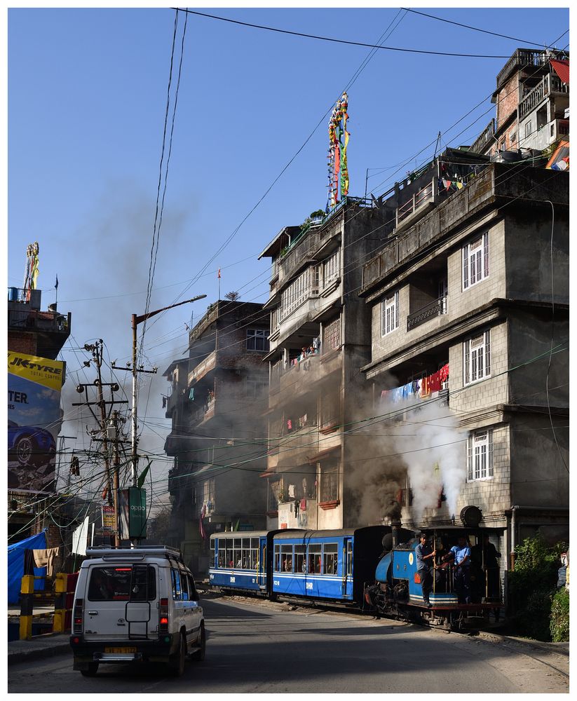
M 150 565 L 93 567 L 88 601 L 154 601 L 156 574 Z

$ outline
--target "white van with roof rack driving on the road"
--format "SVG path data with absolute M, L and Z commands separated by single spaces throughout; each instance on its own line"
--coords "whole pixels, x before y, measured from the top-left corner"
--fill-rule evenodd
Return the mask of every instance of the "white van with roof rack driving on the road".
M 161 546 L 89 548 L 72 613 L 74 669 L 94 676 L 100 662 L 163 662 L 184 672 L 203 660 L 203 609 L 178 550 Z

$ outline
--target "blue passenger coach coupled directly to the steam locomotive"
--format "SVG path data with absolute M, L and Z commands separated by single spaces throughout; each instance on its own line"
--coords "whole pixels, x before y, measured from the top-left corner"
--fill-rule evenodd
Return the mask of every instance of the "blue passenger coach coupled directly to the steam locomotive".
M 383 551 L 386 526 L 338 531 L 277 531 L 273 536 L 273 596 L 363 601 L 365 584 Z

